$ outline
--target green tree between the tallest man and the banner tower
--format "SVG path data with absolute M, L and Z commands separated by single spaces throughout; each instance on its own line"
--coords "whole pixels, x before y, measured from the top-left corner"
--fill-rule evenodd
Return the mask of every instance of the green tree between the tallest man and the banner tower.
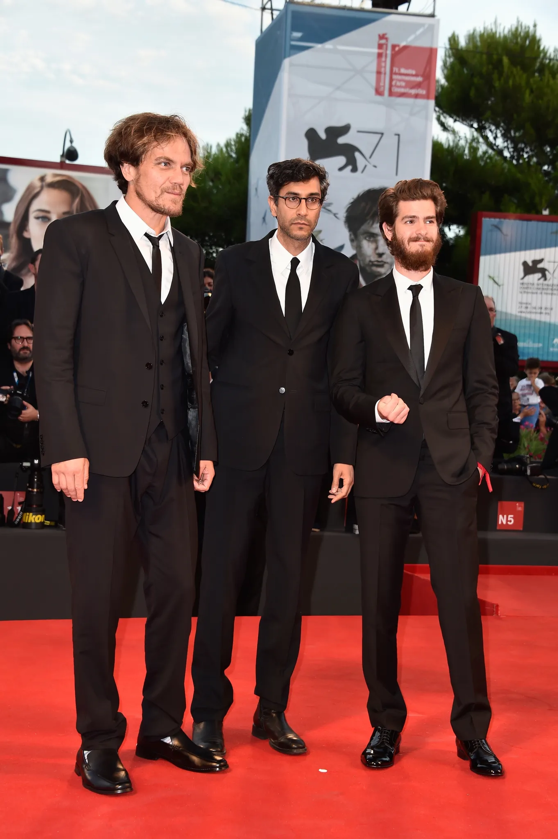
M 251 111 L 243 122 L 223 145 L 205 149 L 204 169 L 195 177 L 195 189 L 188 190 L 182 216 L 173 221 L 204 248 L 208 265 L 221 248 L 246 238 Z

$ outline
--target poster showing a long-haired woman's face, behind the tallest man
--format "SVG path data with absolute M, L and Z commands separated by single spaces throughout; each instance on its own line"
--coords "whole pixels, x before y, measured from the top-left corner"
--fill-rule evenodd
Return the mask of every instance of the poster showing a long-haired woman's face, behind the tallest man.
M 108 206 L 121 193 L 111 173 L 13 165 L 0 159 L 0 234 L 2 264 L 34 283 L 28 265 L 43 247 L 44 232 L 55 219 Z

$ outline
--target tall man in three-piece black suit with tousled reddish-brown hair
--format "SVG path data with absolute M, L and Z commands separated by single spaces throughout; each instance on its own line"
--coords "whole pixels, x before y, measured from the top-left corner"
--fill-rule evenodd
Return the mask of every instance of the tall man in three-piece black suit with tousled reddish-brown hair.
M 66 503 L 72 586 L 75 772 L 132 791 L 118 756 L 114 679 L 127 547 L 143 544 L 146 677 L 138 757 L 218 772 L 182 731 L 194 601 L 194 489 L 217 459 L 204 324 L 204 254 L 173 230 L 199 143 L 181 117 L 117 122 L 105 159 L 123 195 L 49 225 L 35 312 L 43 463 Z

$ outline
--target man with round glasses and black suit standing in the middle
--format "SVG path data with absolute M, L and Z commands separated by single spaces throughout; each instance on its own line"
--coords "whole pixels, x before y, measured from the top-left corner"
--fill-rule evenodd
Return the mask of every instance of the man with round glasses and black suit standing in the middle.
M 355 431 L 332 409 L 328 345 L 359 272 L 313 237 L 328 175 L 309 160 L 271 164 L 277 230 L 221 251 L 207 310 L 211 399 L 219 463 L 207 498 L 194 645 L 195 743 L 225 753 L 233 701 L 236 598 L 256 511 L 266 501 L 266 602 L 256 655 L 252 733 L 284 754 L 306 752 L 285 719 L 301 633 L 301 573 L 322 478 L 332 502 L 353 483 Z

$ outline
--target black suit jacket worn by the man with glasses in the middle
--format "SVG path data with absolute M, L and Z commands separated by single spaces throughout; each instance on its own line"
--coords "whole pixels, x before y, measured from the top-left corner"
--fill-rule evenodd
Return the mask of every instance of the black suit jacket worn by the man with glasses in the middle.
M 299 475 L 319 475 L 328 469 L 330 445 L 333 462 L 354 462 L 354 429 L 329 398 L 328 345 L 359 269 L 314 239 L 308 298 L 291 337 L 271 273 L 272 235 L 221 251 L 215 264 L 207 334 L 219 462 L 263 466 L 284 411 L 289 465 Z

